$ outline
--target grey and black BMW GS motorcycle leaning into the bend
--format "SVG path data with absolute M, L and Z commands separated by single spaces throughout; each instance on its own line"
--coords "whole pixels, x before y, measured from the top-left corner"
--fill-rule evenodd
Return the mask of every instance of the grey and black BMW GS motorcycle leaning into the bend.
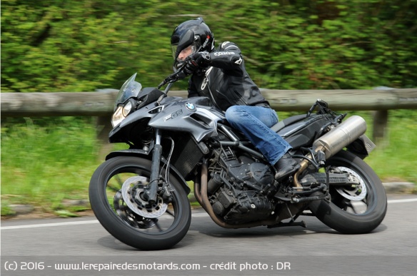
M 273 166 L 209 98 L 167 96 L 181 73 L 158 88 L 142 88 L 134 74 L 120 89 L 109 140 L 129 149 L 107 155 L 89 186 L 91 208 L 111 235 L 141 250 L 176 245 L 191 223 L 187 181 L 223 228 L 306 227 L 300 215 L 348 234 L 381 223 L 386 193 L 363 162 L 375 146 L 363 118 L 343 121 L 346 114 L 318 100 L 305 115 L 277 123 L 273 131 L 291 144 L 300 168 L 276 181 Z

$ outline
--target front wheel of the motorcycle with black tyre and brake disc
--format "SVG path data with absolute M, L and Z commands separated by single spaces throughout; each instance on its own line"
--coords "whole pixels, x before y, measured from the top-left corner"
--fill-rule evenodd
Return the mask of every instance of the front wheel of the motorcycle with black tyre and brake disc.
M 144 200 L 150 175 L 150 160 L 131 156 L 106 160 L 91 177 L 90 203 L 101 225 L 121 242 L 141 250 L 163 250 L 186 235 L 191 208 L 184 188 L 171 174 L 169 200 L 161 197 L 164 192 L 154 204 Z

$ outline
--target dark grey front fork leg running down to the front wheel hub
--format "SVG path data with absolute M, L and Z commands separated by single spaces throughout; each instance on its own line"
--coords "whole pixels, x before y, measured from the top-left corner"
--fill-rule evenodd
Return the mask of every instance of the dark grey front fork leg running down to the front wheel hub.
M 149 185 L 145 188 L 144 198 L 148 200 L 149 204 L 156 203 L 158 185 L 159 185 L 159 169 L 162 157 L 162 145 L 161 145 L 161 131 L 156 129 L 155 132 L 155 145 L 152 152 L 152 165 L 151 176 Z

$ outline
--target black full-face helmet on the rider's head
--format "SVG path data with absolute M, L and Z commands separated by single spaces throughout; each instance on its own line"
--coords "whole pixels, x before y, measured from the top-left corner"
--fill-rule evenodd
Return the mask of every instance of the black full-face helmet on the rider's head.
M 174 56 L 174 70 L 179 68 L 183 62 L 178 60 L 179 53 L 189 46 L 191 46 L 193 53 L 211 52 L 214 49 L 213 33 L 201 17 L 179 24 L 172 33 L 171 48 L 172 56 Z

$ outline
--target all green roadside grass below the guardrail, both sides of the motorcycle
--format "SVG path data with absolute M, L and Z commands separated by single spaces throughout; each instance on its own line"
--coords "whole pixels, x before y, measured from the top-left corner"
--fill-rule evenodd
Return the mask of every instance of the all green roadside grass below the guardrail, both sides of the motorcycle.
M 367 135 L 372 137 L 371 112 L 355 114 L 365 118 Z M 280 114 L 280 118 L 287 116 Z M 390 111 L 386 138 L 366 158 L 381 180 L 417 179 L 416 118 L 417 111 Z M 84 210 L 62 202 L 88 199 L 89 180 L 102 162 L 94 118 L 25 118 L 1 123 L 1 215 L 12 215 L 10 204 L 30 204 L 65 216 Z

